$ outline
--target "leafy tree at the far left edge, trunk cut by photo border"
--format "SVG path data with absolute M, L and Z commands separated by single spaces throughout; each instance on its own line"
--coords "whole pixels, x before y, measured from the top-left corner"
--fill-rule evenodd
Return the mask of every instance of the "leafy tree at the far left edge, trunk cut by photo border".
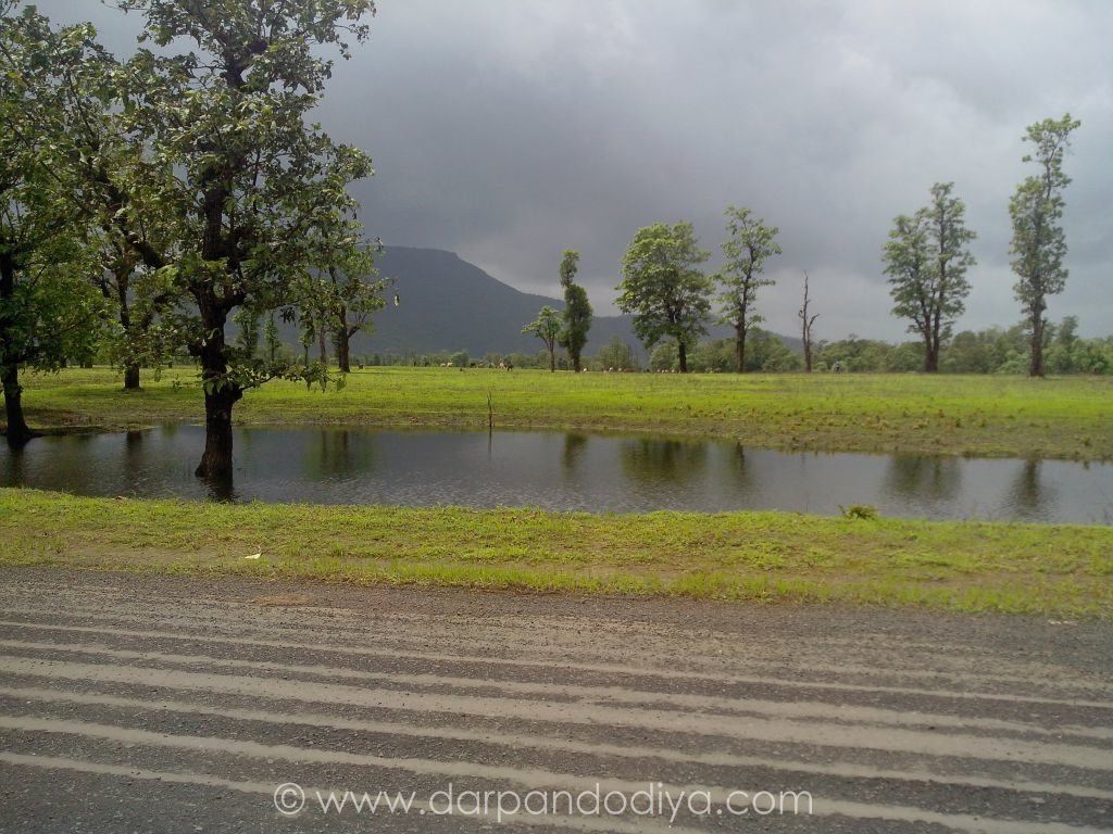
M 93 353 L 100 298 L 87 226 L 66 192 L 70 146 L 57 113 L 61 79 L 96 61 L 88 26 L 55 30 L 33 7 L 0 0 L 0 381 L 6 435 L 33 436 L 22 407 L 21 366 L 56 369 Z

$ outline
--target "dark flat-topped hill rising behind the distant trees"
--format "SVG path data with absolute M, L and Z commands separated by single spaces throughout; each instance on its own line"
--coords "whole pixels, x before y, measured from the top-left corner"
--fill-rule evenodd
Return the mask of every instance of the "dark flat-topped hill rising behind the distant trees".
M 383 277 L 393 278 L 402 304 L 375 316 L 374 331 L 353 339 L 355 354 L 466 350 L 472 356 L 515 350 L 534 353 L 541 342 L 521 332 L 544 305 L 563 309 L 561 299 L 531 295 L 492 278 L 474 264 L 443 249 L 392 246 L 377 259 Z M 555 285 L 555 281 L 554 281 Z M 713 328 L 713 335 L 729 331 Z M 597 316 L 587 353 L 612 336 L 638 345 L 630 316 Z M 292 339 L 296 341 L 296 335 Z M 786 339 L 792 345 L 791 339 Z M 797 347 L 797 345 L 792 345 Z

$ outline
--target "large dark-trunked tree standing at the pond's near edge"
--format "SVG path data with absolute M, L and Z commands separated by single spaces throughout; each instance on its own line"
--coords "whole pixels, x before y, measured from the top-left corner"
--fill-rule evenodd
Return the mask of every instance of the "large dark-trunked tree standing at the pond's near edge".
M 201 370 L 205 453 L 201 477 L 232 473 L 232 413 L 244 391 L 278 373 L 226 338 L 239 307 L 263 312 L 298 304 L 303 276 L 324 257 L 321 229 L 354 216 L 347 185 L 372 173 L 367 156 L 336 145 L 308 122 L 332 63 L 315 48 L 347 58 L 363 41 L 372 0 L 119 0 L 139 11 L 147 49 L 117 73 L 119 128 L 149 149 L 134 181 L 92 179 L 111 198 L 142 193 L 168 218 L 164 246 L 121 207 L 128 240 L 145 264 L 164 270 L 195 315 L 181 332 Z M 173 52 L 186 41 L 191 49 Z M 110 199 L 109 199 L 110 201 Z

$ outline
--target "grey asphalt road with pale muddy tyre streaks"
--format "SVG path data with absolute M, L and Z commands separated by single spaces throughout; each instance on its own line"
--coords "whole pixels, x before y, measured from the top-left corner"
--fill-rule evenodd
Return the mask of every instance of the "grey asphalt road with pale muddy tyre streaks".
M 40 569 L 0 599 L 3 832 L 1113 830 L 1110 624 Z

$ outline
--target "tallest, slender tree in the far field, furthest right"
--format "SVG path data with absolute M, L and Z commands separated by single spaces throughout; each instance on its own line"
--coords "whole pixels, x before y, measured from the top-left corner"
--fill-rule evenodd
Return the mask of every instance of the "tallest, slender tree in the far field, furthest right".
M 1047 319 L 1047 296 L 1057 295 L 1066 286 L 1066 232 L 1062 226 L 1063 189 L 1071 178 L 1063 172 L 1063 156 L 1071 147 L 1071 132 L 1082 125 L 1064 113 L 1062 119 L 1044 119 L 1030 125 L 1024 141 L 1035 146 L 1035 153 L 1023 161 L 1035 162 L 1038 173 L 1027 177 L 1016 187 L 1008 201 L 1013 220 L 1012 267 L 1017 281 L 1013 285 L 1028 320 L 1031 363 L 1028 375 L 1044 375 L 1044 329 Z

